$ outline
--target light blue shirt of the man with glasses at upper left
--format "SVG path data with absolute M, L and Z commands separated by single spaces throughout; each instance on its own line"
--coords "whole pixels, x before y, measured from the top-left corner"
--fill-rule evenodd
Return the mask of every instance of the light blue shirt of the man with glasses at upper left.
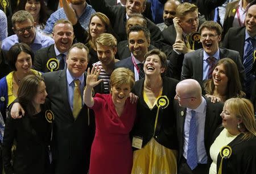
M 2 42 L 2 49 L 9 51 L 11 46 L 15 43 L 19 43 L 19 38 L 17 35 L 11 35 Z M 30 45 L 30 48 L 35 53 L 38 49 L 48 47 L 49 45 L 54 44 L 54 40 L 46 35 L 42 35 L 36 32 L 35 40 Z

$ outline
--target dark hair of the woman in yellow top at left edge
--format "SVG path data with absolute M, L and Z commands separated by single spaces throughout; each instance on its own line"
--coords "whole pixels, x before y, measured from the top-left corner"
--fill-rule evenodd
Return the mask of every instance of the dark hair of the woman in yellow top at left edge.
M 32 64 L 34 63 L 34 52 L 32 51 L 32 49 L 26 44 L 26 43 L 16 43 L 13 46 L 11 46 L 11 48 L 9 49 L 9 57 L 8 57 L 8 63 L 10 65 L 10 68 L 13 69 L 14 71 L 17 71 L 16 67 L 15 67 L 15 63 L 18 59 L 18 55 L 20 54 L 20 52 L 25 52 L 28 55 L 31 56 L 31 60 L 32 60 Z

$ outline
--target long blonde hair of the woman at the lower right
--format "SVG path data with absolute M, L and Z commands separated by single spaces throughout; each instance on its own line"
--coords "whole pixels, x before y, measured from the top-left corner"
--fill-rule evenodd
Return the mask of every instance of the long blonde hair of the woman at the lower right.
M 230 98 L 224 104 L 229 107 L 230 113 L 236 115 L 237 119 L 241 119 L 241 125 L 245 127 L 242 140 L 253 138 L 256 136 L 256 123 L 254 117 L 253 104 L 246 98 Z

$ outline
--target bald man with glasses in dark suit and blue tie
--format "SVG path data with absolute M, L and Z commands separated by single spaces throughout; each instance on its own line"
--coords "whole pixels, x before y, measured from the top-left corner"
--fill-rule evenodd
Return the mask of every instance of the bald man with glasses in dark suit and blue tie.
M 201 86 L 193 79 L 177 84 L 175 99 L 179 143 L 178 173 L 209 173 L 209 150 L 213 133 L 221 123 L 223 103 L 212 103 L 208 98 L 201 96 Z

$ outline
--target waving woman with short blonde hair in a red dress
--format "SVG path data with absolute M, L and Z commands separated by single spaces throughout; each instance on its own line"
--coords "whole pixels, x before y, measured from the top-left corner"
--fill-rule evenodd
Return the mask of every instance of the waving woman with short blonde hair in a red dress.
M 95 113 L 96 134 L 90 154 L 90 174 L 130 174 L 133 152 L 129 132 L 136 115 L 136 103 L 130 102 L 130 92 L 134 85 L 134 74 L 129 69 L 117 68 L 110 76 L 110 94 L 96 94 L 93 87 L 101 69 L 88 69 L 84 103 Z

